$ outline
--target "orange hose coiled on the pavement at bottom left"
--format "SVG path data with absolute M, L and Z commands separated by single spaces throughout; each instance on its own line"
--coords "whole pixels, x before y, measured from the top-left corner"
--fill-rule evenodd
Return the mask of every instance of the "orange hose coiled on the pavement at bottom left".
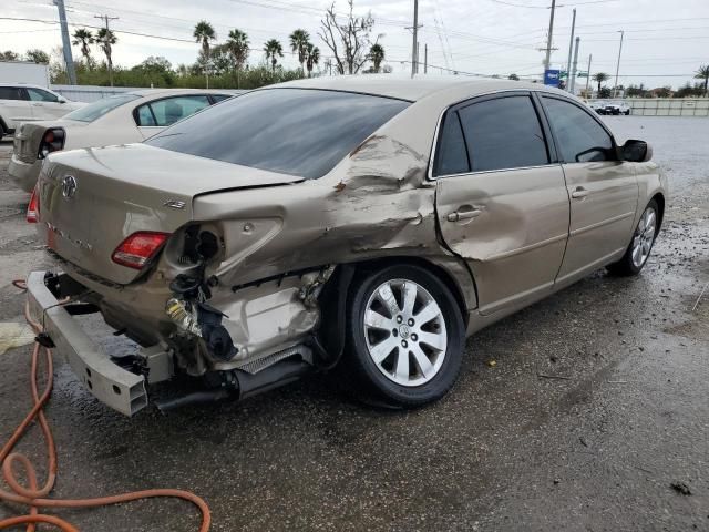
M 18 288 L 25 289 L 23 282 L 13 282 L 13 285 Z M 40 332 L 42 327 L 40 324 L 34 321 L 30 316 L 29 305 L 24 307 L 24 317 L 28 323 L 32 326 L 32 328 Z M 45 508 L 92 508 L 92 507 L 104 507 L 107 504 L 117 504 L 122 502 L 136 501 L 138 499 L 150 499 L 155 497 L 171 497 L 183 499 L 185 501 L 192 502 L 196 505 L 202 512 L 202 524 L 199 525 L 199 532 L 207 532 L 209 530 L 209 524 L 212 521 L 209 507 L 207 503 L 201 499 L 199 497 L 191 493 L 188 491 L 183 490 L 171 490 L 171 489 L 158 489 L 158 490 L 144 490 L 144 491 L 135 491 L 132 493 L 122 493 L 120 495 L 112 497 L 100 497 L 95 499 L 48 499 L 47 495 L 52 491 L 54 487 L 54 481 L 56 480 L 56 448 L 54 446 L 54 438 L 52 437 L 52 431 L 47 422 L 47 418 L 44 416 L 44 405 L 49 400 L 49 397 L 52 391 L 52 381 L 53 381 L 53 364 L 52 364 L 52 351 L 50 349 L 44 348 L 44 359 L 47 364 L 47 382 L 44 385 L 44 390 L 42 395 L 39 393 L 38 386 L 38 366 L 40 358 L 41 346 L 39 344 L 34 344 L 34 350 L 32 351 L 32 377 L 30 380 L 30 387 L 32 390 L 32 399 L 34 401 L 34 406 L 32 410 L 27 415 L 24 420 L 18 426 L 14 433 L 4 444 L 2 450 L 0 450 L 0 464 L 2 464 L 2 474 L 4 475 L 4 480 L 12 490 L 12 492 L 4 491 L 0 489 L 0 501 L 12 502 L 17 504 L 23 504 L 29 507 L 30 511 L 27 515 L 20 515 L 17 518 L 9 518 L 0 521 L 0 529 L 7 529 L 10 526 L 17 526 L 21 524 L 27 524 L 28 532 L 34 532 L 35 525 L 38 523 L 47 523 L 52 524 L 55 528 L 62 530 L 63 532 L 79 532 L 79 529 L 71 523 L 64 521 L 61 518 L 54 515 L 47 515 L 39 512 L 39 509 Z M 38 487 L 37 482 L 37 473 L 34 471 L 34 467 L 30 462 L 30 460 L 20 454 L 18 452 L 12 452 L 12 449 L 27 431 L 30 423 L 37 420 L 42 429 L 44 434 L 44 440 L 47 441 L 47 453 L 48 453 L 48 477 L 44 485 L 42 488 Z M 19 464 L 24 470 L 24 475 L 28 481 L 28 487 L 23 487 L 18 482 L 13 464 Z

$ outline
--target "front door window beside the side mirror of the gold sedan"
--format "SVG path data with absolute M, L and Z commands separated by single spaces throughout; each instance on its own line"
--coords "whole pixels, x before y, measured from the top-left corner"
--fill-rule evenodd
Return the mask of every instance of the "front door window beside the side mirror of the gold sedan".
M 571 102 L 542 96 L 565 163 L 612 161 L 613 139 L 586 111 Z

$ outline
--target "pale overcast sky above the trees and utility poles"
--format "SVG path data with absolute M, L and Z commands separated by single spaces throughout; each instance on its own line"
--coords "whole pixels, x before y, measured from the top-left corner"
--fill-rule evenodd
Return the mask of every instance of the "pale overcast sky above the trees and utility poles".
M 114 62 L 131 66 L 147 55 L 163 55 L 174 65 L 195 61 L 198 45 L 193 42 L 194 24 L 208 20 L 223 42 L 233 28 L 248 33 L 250 64 L 264 61 L 266 40 L 281 41 L 289 51 L 288 34 L 296 28 L 310 32 L 312 41 L 328 51 L 317 35 L 327 0 L 65 0 L 70 31 L 97 25 L 96 14 L 117 17 L 112 21 L 119 43 Z M 540 74 L 546 45 L 551 0 L 420 0 L 421 55 L 424 43 L 429 64 L 482 73 L 520 76 Z M 346 0 L 336 0 L 345 11 Z M 354 0 L 356 12 L 371 10 L 382 34 L 387 60 L 394 72 L 410 70 L 402 61 L 411 59 L 413 0 Z M 709 64 L 709 0 L 557 0 L 552 54 L 553 66 L 566 65 L 572 9 L 576 8 L 576 34 L 580 37 L 579 70 L 586 70 L 593 54 L 592 74 L 615 75 L 616 58 L 625 30 L 620 61 L 620 84 L 644 83 L 646 88 L 690 81 L 700 64 Z M 59 27 L 37 21 L 56 21 L 51 0 L 0 0 L 0 50 L 23 53 L 31 48 L 50 51 L 61 44 Z M 137 37 L 123 31 L 167 39 Z M 181 41 L 182 40 L 182 41 Z M 94 54 L 99 55 L 96 50 Z M 74 59 L 80 57 L 74 48 Z M 286 53 L 284 63 L 295 66 L 297 59 Z M 430 75 L 438 70 L 429 69 Z M 693 80 L 691 80 L 693 82 Z M 582 81 L 583 83 L 583 81 Z

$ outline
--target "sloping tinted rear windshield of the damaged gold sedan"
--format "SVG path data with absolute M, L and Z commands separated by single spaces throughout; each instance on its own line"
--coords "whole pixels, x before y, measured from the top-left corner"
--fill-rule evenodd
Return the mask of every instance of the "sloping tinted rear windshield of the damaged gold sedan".
M 349 92 L 260 90 L 183 120 L 146 144 L 318 178 L 409 104 Z

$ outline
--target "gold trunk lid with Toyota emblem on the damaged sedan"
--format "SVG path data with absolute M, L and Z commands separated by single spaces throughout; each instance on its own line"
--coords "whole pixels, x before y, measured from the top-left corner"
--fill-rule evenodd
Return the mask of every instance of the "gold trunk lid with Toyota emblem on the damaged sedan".
M 111 259 L 127 236 L 174 233 L 193 219 L 197 195 L 298 181 L 144 144 L 61 152 L 48 157 L 40 174 L 38 231 L 81 269 L 129 284 L 141 272 Z

